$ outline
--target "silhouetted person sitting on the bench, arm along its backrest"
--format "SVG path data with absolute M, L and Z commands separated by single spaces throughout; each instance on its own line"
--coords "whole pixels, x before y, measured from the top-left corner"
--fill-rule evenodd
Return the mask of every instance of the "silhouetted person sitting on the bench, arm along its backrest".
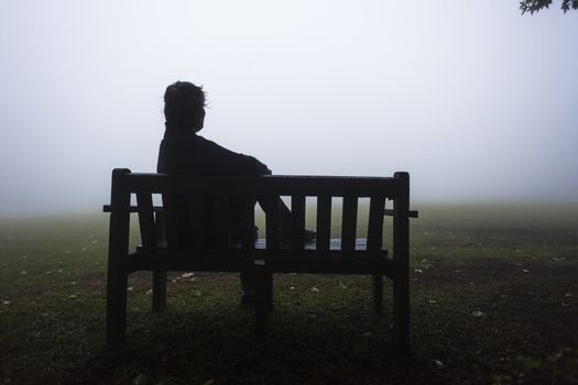
M 239 154 L 209 141 L 197 133 L 205 124 L 206 98 L 203 87 L 189 81 L 176 81 L 164 94 L 165 133 L 159 151 L 157 173 L 190 176 L 261 176 L 271 175 L 271 169 L 253 156 Z M 291 210 L 277 197 L 258 198 L 265 212 L 280 210 L 282 238 L 291 232 Z M 275 205 L 272 205 L 275 204 Z M 235 205 L 232 205 L 235 206 Z M 240 242 L 239 217 L 231 207 L 231 242 Z M 306 230 L 306 239 L 315 232 Z M 210 240 L 208 240 L 210 243 Z M 254 278 L 241 274 L 242 304 L 254 302 Z

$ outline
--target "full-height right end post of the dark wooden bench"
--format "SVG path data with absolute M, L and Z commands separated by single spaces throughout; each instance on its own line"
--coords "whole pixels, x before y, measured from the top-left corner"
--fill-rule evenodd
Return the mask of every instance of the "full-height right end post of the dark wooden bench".
M 393 333 L 400 351 L 410 350 L 410 174 L 395 173 L 393 201 Z

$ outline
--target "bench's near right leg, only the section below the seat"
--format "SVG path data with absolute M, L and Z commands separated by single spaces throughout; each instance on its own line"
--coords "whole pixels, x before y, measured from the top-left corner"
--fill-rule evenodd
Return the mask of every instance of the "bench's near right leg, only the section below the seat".
M 393 338 L 401 352 L 410 350 L 410 282 L 393 279 Z

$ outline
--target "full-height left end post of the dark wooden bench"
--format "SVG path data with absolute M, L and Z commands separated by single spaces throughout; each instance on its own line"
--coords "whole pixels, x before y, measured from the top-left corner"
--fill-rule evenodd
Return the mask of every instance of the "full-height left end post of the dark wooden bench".
M 130 194 L 123 177 L 130 169 L 112 170 L 107 273 L 107 343 L 124 341 L 127 329 L 127 256 L 129 253 Z

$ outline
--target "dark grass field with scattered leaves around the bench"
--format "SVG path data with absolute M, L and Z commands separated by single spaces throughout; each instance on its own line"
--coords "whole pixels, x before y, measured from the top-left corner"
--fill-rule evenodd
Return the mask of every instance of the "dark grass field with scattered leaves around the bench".
M 275 276 L 258 340 L 237 275 L 171 274 L 151 314 L 134 274 L 128 343 L 107 349 L 108 218 L 0 220 L 0 384 L 578 383 L 578 207 L 417 209 L 410 356 L 389 344 L 391 286 L 374 318 L 369 277 L 313 275 Z

